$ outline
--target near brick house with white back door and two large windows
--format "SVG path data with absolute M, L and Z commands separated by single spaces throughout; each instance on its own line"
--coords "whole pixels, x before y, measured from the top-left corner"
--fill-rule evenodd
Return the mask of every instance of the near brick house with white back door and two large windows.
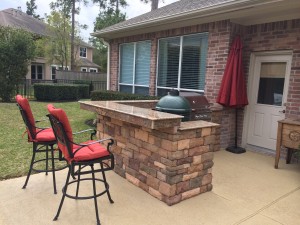
M 240 145 L 274 153 L 277 121 L 300 119 L 299 0 L 181 0 L 92 35 L 109 45 L 111 90 L 165 95 L 177 88 L 204 93 L 210 103 L 240 35 L 249 98 L 238 120 Z M 223 109 L 222 147 L 234 142 L 234 115 Z

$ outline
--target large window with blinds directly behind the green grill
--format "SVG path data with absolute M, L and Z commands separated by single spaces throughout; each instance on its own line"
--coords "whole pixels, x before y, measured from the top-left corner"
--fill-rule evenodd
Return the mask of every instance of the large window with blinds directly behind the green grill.
M 157 95 L 171 88 L 204 92 L 208 34 L 159 40 Z

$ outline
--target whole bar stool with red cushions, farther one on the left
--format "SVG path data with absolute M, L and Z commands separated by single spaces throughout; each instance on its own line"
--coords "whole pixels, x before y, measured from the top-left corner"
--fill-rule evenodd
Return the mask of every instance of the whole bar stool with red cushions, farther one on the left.
M 37 122 L 35 121 L 29 102 L 26 98 L 23 98 L 21 95 L 16 96 L 17 106 L 19 107 L 21 116 L 26 126 L 26 133 L 28 136 L 28 142 L 32 143 L 32 158 L 29 167 L 29 171 L 26 177 L 25 184 L 23 189 L 26 188 L 30 175 L 32 171 L 36 172 L 45 172 L 48 175 L 48 172 L 52 172 L 53 177 L 53 189 L 54 194 L 57 193 L 56 191 L 56 180 L 55 180 L 55 171 L 64 169 L 65 167 L 55 168 L 55 160 L 62 160 L 61 154 L 59 158 L 54 157 L 54 148 L 53 146 L 56 144 L 56 139 L 53 133 L 52 128 L 40 128 L 36 126 Z M 49 149 L 50 148 L 50 149 Z M 51 156 L 49 158 L 49 152 Z M 46 156 L 42 159 L 36 160 L 37 153 L 45 153 Z M 48 161 L 51 160 L 51 169 L 49 168 Z M 37 166 L 39 163 L 45 162 L 45 169 L 37 169 L 34 166 Z

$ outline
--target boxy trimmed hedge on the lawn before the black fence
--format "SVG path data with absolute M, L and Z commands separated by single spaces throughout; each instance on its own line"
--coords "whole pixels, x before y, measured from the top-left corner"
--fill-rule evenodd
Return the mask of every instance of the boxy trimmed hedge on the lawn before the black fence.
M 88 95 L 88 85 L 34 84 L 34 97 L 41 101 L 78 100 Z

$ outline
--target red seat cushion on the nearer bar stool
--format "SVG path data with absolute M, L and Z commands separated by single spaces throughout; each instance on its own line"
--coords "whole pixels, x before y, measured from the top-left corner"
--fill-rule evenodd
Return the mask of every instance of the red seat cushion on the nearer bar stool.
M 84 142 L 82 144 L 88 144 L 94 142 L 93 140 Z M 81 146 L 79 145 L 73 145 L 73 152 L 75 152 L 78 148 Z M 74 155 L 74 161 L 87 161 L 87 160 L 93 160 L 97 158 L 101 158 L 104 156 L 108 156 L 109 152 L 106 150 L 104 146 L 102 146 L 99 143 L 95 143 L 89 146 L 85 146 L 81 148 L 75 155 Z

